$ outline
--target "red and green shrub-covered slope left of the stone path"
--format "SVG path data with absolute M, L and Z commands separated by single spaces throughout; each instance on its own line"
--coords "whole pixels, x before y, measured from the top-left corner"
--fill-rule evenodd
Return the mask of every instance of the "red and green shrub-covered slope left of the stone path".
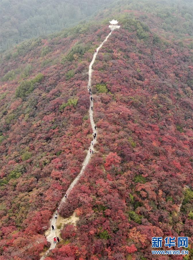
M 84 35 L 76 27 L 70 36 L 25 42 L 2 65 L 0 213 L 6 257 L 37 259 L 46 244 L 37 234 L 79 173 L 91 142 L 87 72 L 109 30 L 84 29 Z

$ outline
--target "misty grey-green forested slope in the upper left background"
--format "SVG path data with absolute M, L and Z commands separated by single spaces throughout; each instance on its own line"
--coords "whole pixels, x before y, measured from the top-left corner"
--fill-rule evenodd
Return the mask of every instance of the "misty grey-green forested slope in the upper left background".
M 90 20 L 109 1 L 1 1 L 1 50 Z

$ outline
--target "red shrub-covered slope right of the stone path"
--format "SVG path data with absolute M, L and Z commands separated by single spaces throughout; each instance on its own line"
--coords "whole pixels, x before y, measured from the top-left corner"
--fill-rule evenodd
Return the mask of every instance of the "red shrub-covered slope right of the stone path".
M 192 191 L 184 194 L 193 183 L 190 57 L 130 19 L 101 49 L 93 76 L 98 154 L 60 212 L 76 209 L 77 229 L 64 228 L 70 243 L 51 259 L 75 257 L 76 247 L 83 259 L 152 259 L 153 236 L 192 244 Z

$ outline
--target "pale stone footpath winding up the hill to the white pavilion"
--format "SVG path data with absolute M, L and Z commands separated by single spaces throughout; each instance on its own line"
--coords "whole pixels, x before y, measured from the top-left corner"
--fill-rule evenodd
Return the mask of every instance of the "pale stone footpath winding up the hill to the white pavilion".
M 108 34 L 108 36 L 105 38 L 105 40 L 99 45 L 99 47 L 96 49 L 97 52 L 94 53 L 94 55 L 93 55 L 93 59 L 92 59 L 90 65 L 89 65 L 89 81 L 88 81 L 88 85 L 87 85 L 87 90 L 88 90 L 88 86 L 91 87 L 92 65 L 93 65 L 93 63 L 94 63 L 94 61 L 95 61 L 95 58 L 96 58 L 96 56 L 97 56 L 97 53 L 98 53 L 99 49 L 102 47 L 102 45 L 104 44 L 104 42 L 107 41 L 107 39 L 108 39 L 108 37 L 111 35 L 111 33 L 112 33 L 112 31 Z M 90 97 L 89 97 L 89 99 L 90 99 Z M 91 101 L 91 99 L 90 99 L 89 117 L 90 117 L 90 122 L 91 122 L 91 126 L 92 126 L 93 133 L 94 133 L 96 130 L 95 130 L 95 128 L 94 128 L 94 127 L 95 127 L 95 123 L 94 123 L 94 120 L 93 120 L 93 111 L 91 110 L 91 106 L 93 106 L 93 100 Z M 97 131 L 96 131 L 96 133 L 97 133 Z M 96 143 L 96 141 L 97 141 L 97 138 L 95 138 L 95 139 L 93 140 L 94 144 Z M 77 183 L 78 180 L 80 179 L 81 175 L 83 174 L 83 172 L 84 172 L 84 170 L 85 170 L 87 164 L 89 163 L 89 160 L 90 160 L 90 158 L 91 158 L 91 154 L 90 154 L 90 151 L 89 151 L 89 150 L 91 149 L 91 150 L 94 151 L 94 148 L 93 148 L 94 144 L 93 144 L 93 145 L 91 144 L 90 147 L 88 148 L 87 156 L 86 156 L 86 158 L 84 159 L 83 164 L 82 164 L 82 165 L 83 165 L 83 166 L 82 166 L 82 169 L 81 169 L 80 173 L 78 174 L 78 176 L 74 179 L 74 181 L 72 181 L 72 183 L 70 184 L 68 190 L 66 191 L 67 196 L 68 196 L 68 194 L 70 193 L 70 191 L 72 190 L 72 188 L 76 185 L 76 183 Z M 61 205 L 63 202 L 65 202 L 65 201 L 66 201 L 66 198 L 63 197 L 62 200 L 60 201 L 60 205 Z M 58 207 L 60 207 L 60 205 L 59 205 Z M 56 246 L 56 244 L 53 243 L 53 238 L 56 237 L 56 229 L 57 229 L 57 227 L 56 227 L 56 218 L 55 218 L 55 215 L 56 215 L 56 214 L 58 214 L 58 212 L 57 212 L 57 211 L 54 211 L 53 216 L 52 216 L 52 218 L 51 218 L 50 234 L 46 237 L 47 241 L 49 241 L 49 242 L 51 243 L 51 246 L 50 246 L 50 248 L 45 252 L 45 254 L 41 257 L 40 260 L 43 260 L 43 259 L 47 256 L 47 254 L 49 253 L 49 250 L 54 249 L 55 246 Z M 52 230 L 51 225 L 54 226 L 54 230 Z

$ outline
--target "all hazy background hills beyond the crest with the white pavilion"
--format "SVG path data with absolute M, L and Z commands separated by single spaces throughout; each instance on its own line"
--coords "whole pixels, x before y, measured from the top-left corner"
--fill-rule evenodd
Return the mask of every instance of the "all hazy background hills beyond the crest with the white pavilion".
M 106 17 L 128 12 L 170 40 L 192 36 L 191 1 L 9 1 L 0 8 L 1 51 L 19 42 L 72 27 L 80 21 L 100 23 Z M 108 21 L 108 20 L 107 20 Z M 154 31 L 154 30 L 153 30 Z M 156 32 L 156 31 L 155 31 Z M 182 43 L 181 43 L 182 44 Z M 192 46 L 193 44 L 191 44 Z

